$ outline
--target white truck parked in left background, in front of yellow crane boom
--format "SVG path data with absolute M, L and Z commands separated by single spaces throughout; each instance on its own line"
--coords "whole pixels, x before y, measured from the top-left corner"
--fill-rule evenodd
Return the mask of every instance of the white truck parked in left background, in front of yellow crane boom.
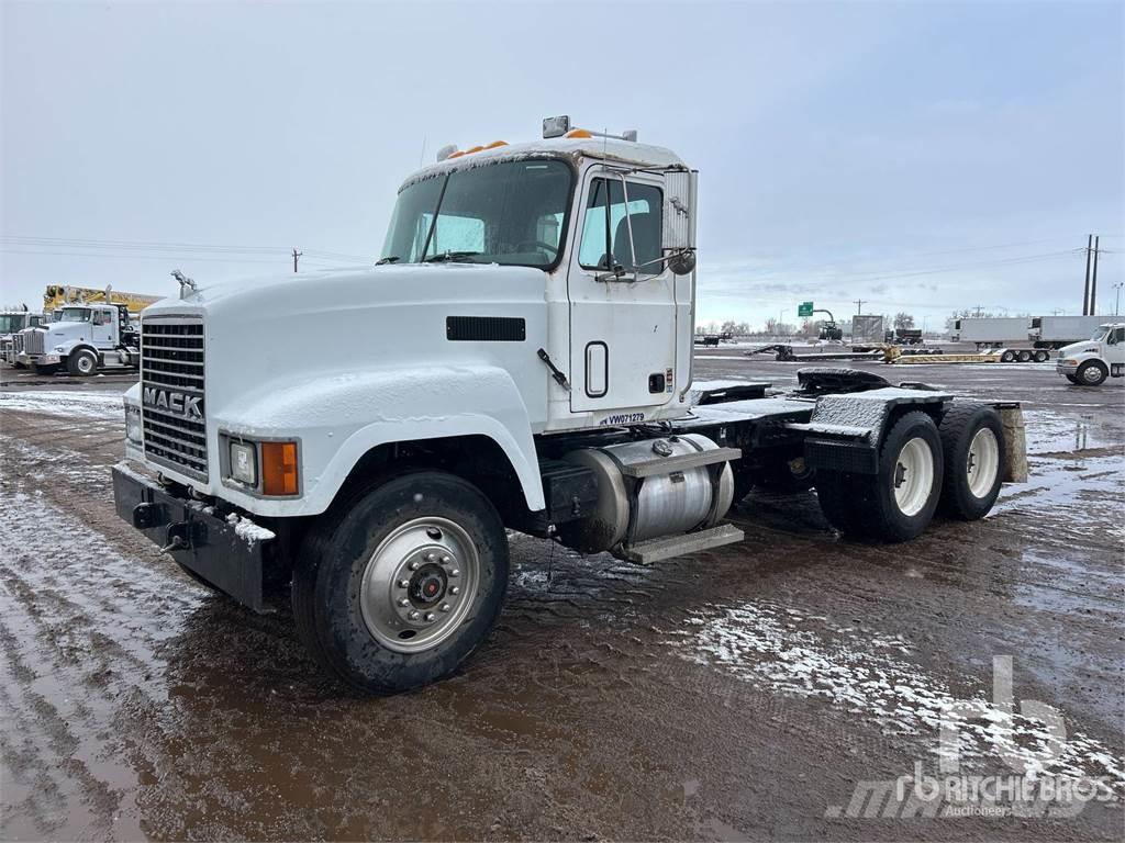
M 58 369 L 89 377 L 102 369 L 134 366 L 140 335 L 125 305 L 65 305 L 50 323 L 21 332 L 17 362 L 36 371 Z

